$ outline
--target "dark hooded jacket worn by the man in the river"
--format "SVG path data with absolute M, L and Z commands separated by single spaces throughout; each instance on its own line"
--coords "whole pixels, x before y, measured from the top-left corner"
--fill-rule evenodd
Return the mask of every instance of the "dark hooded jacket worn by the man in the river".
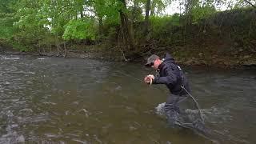
M 174 61 L 170 54 L 166 53 L 164 61 L 158 66 L 159 77 L 154 78 L 154 84 L 165 84 L 171 94 L 185 95 L 186 90 L 190 92 L 190 87 L 182 70 Z M 186 90 L 183 90 L 184 86 Z

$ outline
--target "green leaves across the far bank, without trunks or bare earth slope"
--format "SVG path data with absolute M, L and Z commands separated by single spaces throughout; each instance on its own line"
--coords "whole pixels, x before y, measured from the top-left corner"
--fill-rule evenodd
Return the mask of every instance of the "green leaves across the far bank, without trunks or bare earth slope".
M 144 39 L 145 34 L 142 34 L 142 30 L 147 1 L 128 0 L 125 6 L 123 0 L 0 0 L 0 38 L 2 42 L 5 41 L 22 51 L 38 50 L 53 45 L 57 47 L 64 40 L 75 42 L 86 39 L 114 44 L 118 36 L 119 42 L 123 42 L 120 18 L 122 11 L 127 16 L 126 26 L 133 24 L 130 26 L 133 37 Z M 171 2 L 181 4 L 182 14 L 159 16 L 166 6 L 172 4 Z M 238 11 L 238 14 L 232 14 L 234 11 L 218 14 L 216 2 L 218 6 L 225 4 L 226 7 L 241 11 Z M 242 0 L 231 3 L 226 0 L 150 0 L 149 38 L 175 41 L 178 38 L 185 38 L 182 35 L 185 22 L 193 27 L 193 24 L 205 24 L 203 22 L 207 21 L 209 25 L 220 26 L 219 30 L 224 30 L 222 26 L 230 26 L 229 31 L 234 30 L 229 34 L 232 38 L 239 36 L 240 39 L 250 39 L 256 34 L 256 21 L 252 19 L 256 17 L 254 12 L 249 14 L 241 9 L 248 9 L 248 6 L 250 5 Z M 226 18 L 230 20 L 226 21 Z M 189 27 L 186 28 L 186 34 L 193 31 L 189 30 Z M 197 31 L 197 28 L 194 31 Z M 198 30 L 198 34 L 201 31 Z M 135 39 L 135 42 L 138 42 L 138 39 Z

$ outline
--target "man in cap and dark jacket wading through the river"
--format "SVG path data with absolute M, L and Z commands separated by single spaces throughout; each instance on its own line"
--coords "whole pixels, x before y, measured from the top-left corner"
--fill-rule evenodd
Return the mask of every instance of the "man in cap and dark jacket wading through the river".
M 150 85 L 165 84 L 170 90 L 170 95 L 164 105 L 164 111 L 171 126 L 178 125 L 183 127 L 193 127 L 194 122 L 190 121 L 190 123 L 188 123 L 185 122 L 186 120 L 184 119 L 181 120 L 179 105 L 191 96 L 190 86 L 181 67 L 177 65 L 174 58 L 172 58 L 168 53 L 166 53 L 165 58 L 162 59 L 158 57 L 158 55 L 153 54 L 147 59 L 145 66 L 151 66 L 157 71 L 155 76 L 152 74 L 147 75 L 144 78 L 145 83 Z M 196 102 L 195 99 L 193 100 Z

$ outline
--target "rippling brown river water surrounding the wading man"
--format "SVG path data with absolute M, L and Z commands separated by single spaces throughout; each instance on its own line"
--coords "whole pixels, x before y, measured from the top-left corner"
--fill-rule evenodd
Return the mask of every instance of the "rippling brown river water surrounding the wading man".
M 184 70 L 222 142 L 255 143 L 256 71 Z M 2 55 L 0 143 L 212 143 L 155 114 L 168 91 L 136 79 L 152 72 L 140 64 Z

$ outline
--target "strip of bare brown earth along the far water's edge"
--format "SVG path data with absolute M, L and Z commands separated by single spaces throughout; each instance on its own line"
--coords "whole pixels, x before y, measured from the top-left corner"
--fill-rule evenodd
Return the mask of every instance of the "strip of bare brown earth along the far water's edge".
M 173 49 L 174 50 L 174 49 Z M 255 54 L 247 55 L 233 55 L 223 56 L 218 54 L 206 54 L 202 52 L 191 52 L 186 51 L 185 48 L 177 47 L 176 50 L 158 50 L 155 54 L 163 57 L 166 52 L 170 53 L 178 62 L 183 66 L 194 66 L 194 67 L 213 67 L 223 69 L 256 69 L 256 56 Z M 46 56 L 46 57 L 64 57 L 59 54 L 58 51 L 51 51 L 45 53 L 38 52 L 20 52 L 17 50 L 0 50 L 0 54 L 6 55 L 33 55 L 33 56 Z M 146 58 L 150 54 L 145 54 L 140 58 L 134 60 L 125 59 L 122 53 L 114 53 L 112 50 L 100 50 L 98 49 L 87 49 L 87 50 L 68 50 L 65 58 L 89 58 L 98 59 L 111 62 L 146 62 Z

